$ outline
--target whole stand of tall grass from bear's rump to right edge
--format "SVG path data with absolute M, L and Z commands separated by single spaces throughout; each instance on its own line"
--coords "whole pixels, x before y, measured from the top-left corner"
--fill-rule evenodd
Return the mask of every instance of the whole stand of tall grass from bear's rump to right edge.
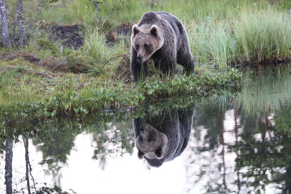
M 206 17 L 187 26 L 194 58 L 226 68 L 233 63 L 289 60 L 291 19 L 276 6 L 248 6 L 227 19 Z

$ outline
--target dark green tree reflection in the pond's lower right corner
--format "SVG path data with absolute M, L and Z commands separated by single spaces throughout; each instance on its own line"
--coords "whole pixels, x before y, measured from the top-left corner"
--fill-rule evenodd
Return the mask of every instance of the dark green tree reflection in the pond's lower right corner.
M 253 186 L 257 190 L 261 187 L 264 190 L 265 185 L 273 184 L 282 193 L 291 193 L 291 137 L 288 131 L 280 132 L 276 129 L 281 125 L 280 122 L 290 122 L 290 115 L 285 120 L 274 119 L 274 122 L 275 125 L 272 126 L 266 115 L 259 120 L 255 133 L 249 129 L 248 122 L 245 122 L 245 131 L 239 142 L 242 162 L 237 168 L 248 170 L 243 177 L 254 178 L 246 186 Z M 261 138 L 256 138 L 258 135 Z

